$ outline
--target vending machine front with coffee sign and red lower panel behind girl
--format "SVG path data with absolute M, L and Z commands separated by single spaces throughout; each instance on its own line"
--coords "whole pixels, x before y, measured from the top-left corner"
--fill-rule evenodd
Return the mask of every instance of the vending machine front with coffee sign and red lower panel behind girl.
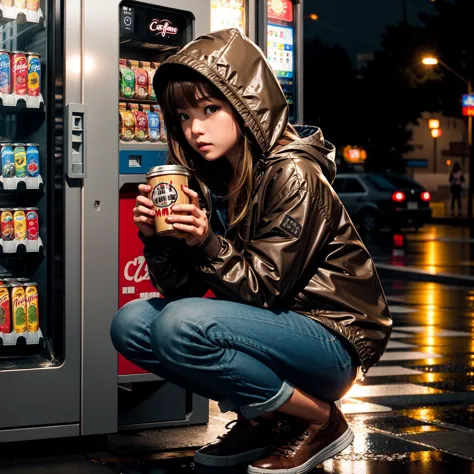
M 168 145 L 153 77 L 167 57 L 192 39 L 194 15 L 185 10 L 125 1 L 120 4 L 120 217 L 119 306 L 160 296 L 133 225 L 138 184 L 153 166 L 163 165 Z M 119 356 L 119 375 L 145 372 Z

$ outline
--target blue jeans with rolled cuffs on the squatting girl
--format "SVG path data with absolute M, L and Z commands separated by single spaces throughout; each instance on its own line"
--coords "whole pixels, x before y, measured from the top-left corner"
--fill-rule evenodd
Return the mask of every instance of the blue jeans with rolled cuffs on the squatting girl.
M 132 301 L 111 336 L 138 366 L 249 419 L 280 408 L 294 387 L 338 400 L 356 372 L 346 344 L 317 321 L 231 301 Z

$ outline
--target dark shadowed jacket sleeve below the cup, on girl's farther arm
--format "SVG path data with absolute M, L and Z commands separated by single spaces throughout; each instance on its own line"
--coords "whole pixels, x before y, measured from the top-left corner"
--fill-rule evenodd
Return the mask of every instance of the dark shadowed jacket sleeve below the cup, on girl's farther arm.
M 203 296 L 209 285 L 186 258 L 187 246 L 172 237 L 140 237 L 153 286 L 168 299 Z

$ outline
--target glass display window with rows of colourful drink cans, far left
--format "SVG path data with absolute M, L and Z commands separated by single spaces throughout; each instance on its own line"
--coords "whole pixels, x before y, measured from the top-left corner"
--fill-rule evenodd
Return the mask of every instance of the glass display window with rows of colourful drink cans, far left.
M 60 294 L 56 308 L 48 301 L 60 271 L 48 265 L 61 261 L 52 236 L 62 222 L 49 204 L 56 105 L 50 2 L 3 1 L 0 11 L 0 371 L 54 367 L 64 355 L 64 314 Z

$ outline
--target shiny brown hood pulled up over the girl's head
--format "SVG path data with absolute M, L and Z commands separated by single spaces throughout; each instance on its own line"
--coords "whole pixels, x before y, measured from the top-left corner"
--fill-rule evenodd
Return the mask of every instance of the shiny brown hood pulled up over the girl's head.
M 164 61 L 153 80 L 158 101 L 175 65 L 210 80 L 248 125 L 264 154 L 277 143 L 288 124 L 288 104 L 262 51 L 239 30 L 200 36 Z

